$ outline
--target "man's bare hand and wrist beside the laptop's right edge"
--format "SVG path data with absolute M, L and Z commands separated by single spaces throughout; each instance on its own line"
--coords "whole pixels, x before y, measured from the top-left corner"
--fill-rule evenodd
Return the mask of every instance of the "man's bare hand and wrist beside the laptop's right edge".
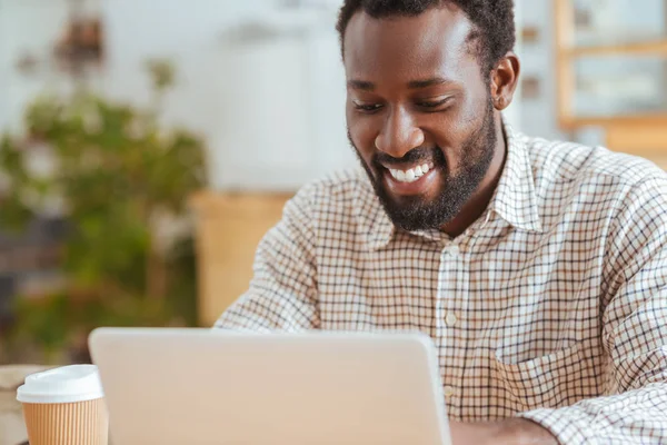
M 449 422 L 454 445 L 558 445 L 542 426 L 525 418 L 498 422 Z

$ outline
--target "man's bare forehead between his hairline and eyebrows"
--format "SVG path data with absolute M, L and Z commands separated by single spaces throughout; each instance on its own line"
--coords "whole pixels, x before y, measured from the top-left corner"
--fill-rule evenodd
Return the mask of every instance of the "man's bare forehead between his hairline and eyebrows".
M 458 8 L 432 8 L 415 17 L 375 19 L 364 11 L 344 37 L 348 79 L 410 81 L 434 75 L 456 80 L 478 68 L 468 42 L 472 24 Z

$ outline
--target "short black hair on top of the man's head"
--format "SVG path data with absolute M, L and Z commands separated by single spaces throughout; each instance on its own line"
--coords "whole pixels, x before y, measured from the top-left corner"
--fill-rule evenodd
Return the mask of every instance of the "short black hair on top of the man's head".
M 362 10 L 375 19 L 392 16 L 419 16 L 445 3 L 457 6 L 475 27 L 468 41 L 476 41 L 482 70 L 489 72 L 515 46 L 514 0 L 345 0 L 336 29 L 344 48 L 345 30 L 352 16 Z

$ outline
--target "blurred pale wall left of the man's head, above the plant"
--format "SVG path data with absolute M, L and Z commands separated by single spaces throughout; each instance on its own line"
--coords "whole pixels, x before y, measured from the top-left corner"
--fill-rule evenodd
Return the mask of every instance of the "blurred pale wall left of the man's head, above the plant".
M 146 105 L 151 95 L 145 61 L 175 61 L 178 86 L 165 102 L 165 120 L 207 138 L 215 188 L 291 190 L 350 165 L 336 2 L 282 13 L 275 12 L 277 3 L 283 2 L 161 0 L 158 7 L 153 0 L 89 0 L 87 10 L 102 11 L 107 33 L 106 61 L 91 77 L 93 87 Z M 0 128 L 19 129 L 26 103 L 39 92 L 71 89 L 48 63 L 27 77 L 16 70 L 22 51 L 47 58 L 67 4 L 0 0 Z M 242 26 L 276 36 L 230 41 L 229 31 Z

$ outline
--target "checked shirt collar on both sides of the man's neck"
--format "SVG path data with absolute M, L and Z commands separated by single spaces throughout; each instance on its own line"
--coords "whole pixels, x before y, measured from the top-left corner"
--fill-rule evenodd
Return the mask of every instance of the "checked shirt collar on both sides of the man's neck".
M 525 137 L 515 131 L 505 119 L 502 126 L 507 155 L 502 175 L 488 208 L 518 229 L 541 233 L 538 199 Z M 359 174 L 362 176 L 365 190 L 358 196 L 357 208 L 360 209 L 359 217 L 364 226 L 367 226 L 366 241 L 371 249 L 378 250 L 391 241 L 397 229 L 387 216 L 366 172 L 359 169 Z

